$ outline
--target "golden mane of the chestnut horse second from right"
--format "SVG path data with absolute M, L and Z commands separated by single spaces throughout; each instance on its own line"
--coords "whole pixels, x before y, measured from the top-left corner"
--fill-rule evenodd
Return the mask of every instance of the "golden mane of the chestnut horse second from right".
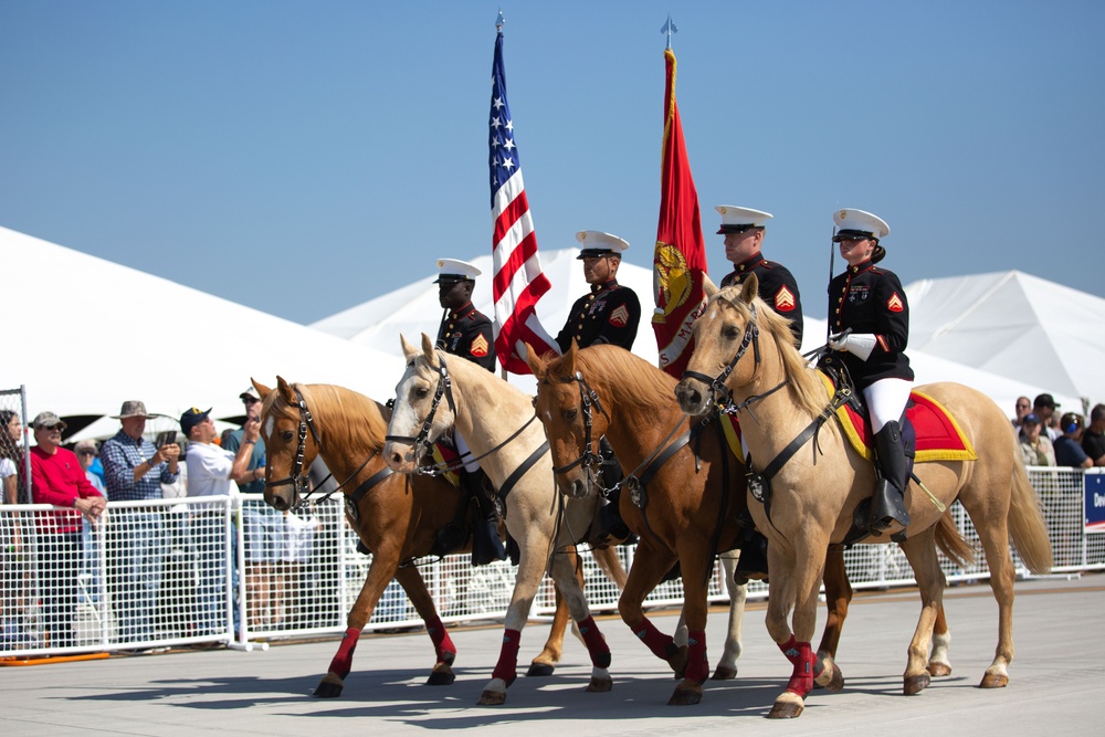
M 550 355 L 543 360 L 550 380 L 571 379 L 564 357 Z M 601 344 L 583 348 L 576 351 L 576 364 L 577 370 L 592 385 L 604 385 L 608 391 L 629 388 L 619 397 L 621 404 L 653 410 L 657 404 L 676 406 L 675 378 L 623 348 Z

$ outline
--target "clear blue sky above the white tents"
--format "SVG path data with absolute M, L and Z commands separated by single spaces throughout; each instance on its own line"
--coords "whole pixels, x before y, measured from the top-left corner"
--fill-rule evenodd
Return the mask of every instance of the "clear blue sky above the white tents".
M 823 317 L 851 207 L 905 283 L 1105 296 L 1099 0 L 0 0 L 0 225 L 301 323 L 487 253 L 499 8 L 541 250 L 651 267 L 671 12 L 715 281 L 713 207 L 767 210 Z

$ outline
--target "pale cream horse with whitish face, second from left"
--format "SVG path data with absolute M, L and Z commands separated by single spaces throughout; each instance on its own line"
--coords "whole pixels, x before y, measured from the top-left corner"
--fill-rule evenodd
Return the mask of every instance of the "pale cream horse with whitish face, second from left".
M 568 604 L 593 666 L 588 691 L 612 687 L 610 649 L 591 618 L 571 560 L 560 555 L 590 529 L 596 499 L 562 501 L 552 481 L 545 432 L 533 400 L 516 387 L 463 358 L 452 358 L 422 335 L 422 348 L 402 338 L 407 371 L 396 387 L 396 406 L 383 455 L 394 471 L 410 473 L 427 443 L 454 425 L 497 489 L 506 528 L 520 558 L 503 647 L 480 704 L 503 704 L 514 682 L 518 642 L 546 567 Z M 562 509 L 561 509 L 562 507 Z M 551 566 L 549 557 L 551 556 Z

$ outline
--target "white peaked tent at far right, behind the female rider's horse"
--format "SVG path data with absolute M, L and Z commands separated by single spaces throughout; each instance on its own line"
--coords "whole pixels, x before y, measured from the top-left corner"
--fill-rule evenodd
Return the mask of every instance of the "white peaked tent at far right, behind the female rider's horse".
M 1105 299 L 1019 271 L 922 280 L 905 289 L 913 350 L 1043 387 L 1056 399 L 1105 401 Z M 1081 401 L 1062 404 L 1083 409 Z

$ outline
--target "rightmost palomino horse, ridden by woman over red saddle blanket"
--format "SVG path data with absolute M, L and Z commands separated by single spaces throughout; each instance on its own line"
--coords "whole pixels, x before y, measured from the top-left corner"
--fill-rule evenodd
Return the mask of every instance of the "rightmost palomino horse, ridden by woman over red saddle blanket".
M 749 418 L 741 428 L 753 470 L 762 478 L 758 502 L 750 507 L 756 526 L 770 540 L 767 628 L 793 664 L 787 691 L 776 699 L 770 716 L 794 717 L 812 688 L 815 659 L 810 638 L 822 575 L 820 551 L 848 534 L 855 507 L 875 486 L 875 471 L 852 449 L 839 424 L 829 421 L 833 414 L 829 391 L 794 349 L 786 320 L 756 297 L 756 277 L 750 276 L 709 298 L 695 324 L 695 352 L 676 396 L 685 412 L 701 414 L 716 399 L 715 392 L 729 392 Z M 717 378 L 712 383 L 699 378 L 707 375 Z M 1013 657 L 1014 569 L 1009 538 L 1012 535 L 1030 570 L 1044 572 L 1051 568 L 1048 530 L 1004 413 L 988 397 L 961 385 L 934 383 L 916 390 L 950 411 L 978 460 L 918 463 L 915 474 L 922 485 L 912 483 L 905 493 L 911 523 L 901 546 L 917 577 L 923 606 L 909 644 L 904 689 L 913 694 L 928 684 L 925 661 L 945 586 L 933 525 L 944 514 L 940 505 L 950 506 L 956 499 L 978 531 L 998 601 L 998 646 L 980 685 L 1004 686 Z M 785 453 L 796 439 L 799 451 L 788 459 Z M 866 541 L 890 540 L 880 536 Z M 791 609 L 793 631 L 787 621 Z

